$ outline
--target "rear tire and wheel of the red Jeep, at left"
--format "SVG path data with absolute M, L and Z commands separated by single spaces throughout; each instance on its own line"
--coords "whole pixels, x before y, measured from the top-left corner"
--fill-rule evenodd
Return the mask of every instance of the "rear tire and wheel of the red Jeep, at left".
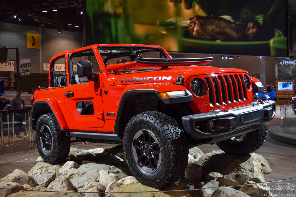
M 44 162 L 55 164 L 65 161 L 70 152 L 70 138 L 59 129 L 54 114 L 43 114 L 36 124 L 36 143 Z

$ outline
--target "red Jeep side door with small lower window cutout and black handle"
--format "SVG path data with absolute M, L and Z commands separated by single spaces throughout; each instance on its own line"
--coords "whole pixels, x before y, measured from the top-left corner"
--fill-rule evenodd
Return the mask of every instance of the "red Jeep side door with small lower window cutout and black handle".
M 79 59 L 81 58 L 69 58 L 69 62 L 71 62 L 69 63 L 69 76 L 72 77 L 70 77 L 70 85 L 67 85 L 64 89 L 65 110 L 67 110 L 65 118 L 69 128 L 74 127 L 72 130 L 96 132 L 96 128 L 104 126 L 103 101 L 102 95 L 99 95 L 99 80 L 93 82 L 88 81 L 86 77 L 78 77 L 75 66 Z

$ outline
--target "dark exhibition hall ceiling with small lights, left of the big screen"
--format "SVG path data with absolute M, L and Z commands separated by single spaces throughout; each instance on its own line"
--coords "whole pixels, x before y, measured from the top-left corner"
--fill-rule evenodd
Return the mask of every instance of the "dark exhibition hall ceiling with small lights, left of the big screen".
M 82 0 L 0 0 L 0 21 L 81 32 Z

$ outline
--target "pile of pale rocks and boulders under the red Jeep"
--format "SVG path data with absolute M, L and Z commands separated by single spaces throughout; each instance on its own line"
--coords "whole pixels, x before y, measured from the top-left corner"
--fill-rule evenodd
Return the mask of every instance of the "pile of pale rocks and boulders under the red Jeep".
M 1 197 L 261 196 L 267 192 L 264 174 L 272 173 L 263 156 L 223 151 L 203 154 L 189 150 L 184 177 L 165 188 L 139 183 L 128 170 L 122 146 L 108 149 L 71 148 L 65 163 L 48 164 L 41 157 L 28 173 L 16 169 L 0 180 Z M 272 196 L 271 193 L 268 193 Z

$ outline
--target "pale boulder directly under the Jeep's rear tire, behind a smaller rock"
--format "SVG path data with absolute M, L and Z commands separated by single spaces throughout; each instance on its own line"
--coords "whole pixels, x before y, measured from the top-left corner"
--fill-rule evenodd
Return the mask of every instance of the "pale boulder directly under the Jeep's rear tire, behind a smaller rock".
M 36 180 L 39 175 L 41 175 L 45 172 L 51 171 L 51 170 L 55 170 L 56 171 L 56 178 L 57 178 L 61 174 L 59 172 L 60 168 L 61 168 L 61 166 L 59 166 L 59 165 L 52 165 L 52 164 L 49 164 L 46 162 L 39 162 L 30 169 L 28 174 Z

